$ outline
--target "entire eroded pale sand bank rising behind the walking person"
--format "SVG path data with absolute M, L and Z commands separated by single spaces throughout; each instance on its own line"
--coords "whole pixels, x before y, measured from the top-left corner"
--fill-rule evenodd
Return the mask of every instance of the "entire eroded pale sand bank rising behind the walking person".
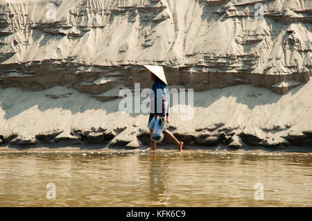
M 3 144 L 148 145 L 118 92 L 150 87 L 142 65 L 158 64 L 196 91 L 193 119 L 170 118 L 185 143 L 312 145 L 309 0 L 0 2 Z

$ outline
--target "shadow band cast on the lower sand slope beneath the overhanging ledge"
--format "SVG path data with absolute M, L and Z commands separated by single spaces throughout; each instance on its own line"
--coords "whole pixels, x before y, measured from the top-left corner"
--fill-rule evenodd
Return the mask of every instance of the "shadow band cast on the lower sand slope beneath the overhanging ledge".
M 291 89 L 286 94 L 296 94 L 304 85 Z M 53 95 L 53 98 L 51 98 Z M 187 97 L 187 95 L 186 95 Z M 264 88 L 252 87 L 251 85 L 236 85 L 222 89 L 211 89 L 207 91 L 194 92 L 194 107 L 209 107 L 220 98 L 234 97 L 236 103 L 247 105 L 253 109 L 258 105 L 277 103 L 281 95 Z M 146 98 L 146 97 L 145 97 Z M 141 97 L 141 102 L 145 99 Z M 171 100 L 173 96 L 171 95 Z M 103 110 L 106 114 L 119 111 L 119 103 L 123 98 L 102 102 L 96 100 L 91 94 L 80 93 L 76 89 L 66 87 L 53 87 L 44 91 L 24 91 L 16 87 L 0 89 L 0 107 L 6 112 L 6 120 L 37 106 L 41 112 L 48 109 L 64 109 L 71 111 L 71 114 L 83 113 L 88 110 Z M 132 99 L 134 103 L 135 99 Z M 134 105 L 132 105 L 134 109 Z M 171 101 L 172 107 L 172 101 Z M 141 113 L 130 113 L 136 117 Z M 147 114 L 146 114 L 147 115 Z

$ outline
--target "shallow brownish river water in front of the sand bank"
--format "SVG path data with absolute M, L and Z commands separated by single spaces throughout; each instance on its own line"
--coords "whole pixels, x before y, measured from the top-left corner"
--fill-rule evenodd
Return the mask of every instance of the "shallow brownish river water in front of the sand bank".
M 0 206 L 312 206 L 312 153 L 1 151 Z

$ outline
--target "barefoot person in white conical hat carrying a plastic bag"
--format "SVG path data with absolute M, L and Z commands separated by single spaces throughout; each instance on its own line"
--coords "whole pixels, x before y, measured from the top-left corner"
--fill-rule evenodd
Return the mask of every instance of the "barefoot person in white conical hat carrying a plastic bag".
M 183 142 L 179 141 L 168 131 L 168 84 L 166 81 L 166 76 L 164 75 L 164 69 L 155 65 L 144 65 L 148 71 L 150 71 L 150 79 L 153 81 L 151 97 L 150 97 L 150 116 L 148 118 L 148 127 L 150 129 L 150 140 L 152 147 L 150 150 L 156 150 L 156 141 L 161 141 L 161 138 L 153 137 L 153 129 L 155 128 L 155 123 L 159 123 L 162 133 L 168 139 L 171 139 L 177 149 L 182 151 Z M 161 107 L 159 107 L 159 105 Z M 162 109 L 159 111 L 159 109 Z M 154 118 L 154 119 L 153 119 Z M 157 119 L 158 118 L 158 119 Z

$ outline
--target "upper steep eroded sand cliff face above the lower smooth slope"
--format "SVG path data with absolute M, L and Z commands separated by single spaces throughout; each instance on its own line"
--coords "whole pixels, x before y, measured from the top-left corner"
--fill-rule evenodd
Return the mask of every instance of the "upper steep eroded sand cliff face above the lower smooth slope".
M 1 88 L 85 92 L 79 83 L 112 70 L 127 84 L 143 64 L 161 64 L 190 88 L 240 78 L 284 94 L 284 81 L 300 85 L 312 74 L 309 0 L 261 1 L 263 19 L 255 18 L 258 0 L 63 0 L 54 2 L 55 18 L 50 1 L 2 3 L 0 78 L 21 76 L 1 78 Z

